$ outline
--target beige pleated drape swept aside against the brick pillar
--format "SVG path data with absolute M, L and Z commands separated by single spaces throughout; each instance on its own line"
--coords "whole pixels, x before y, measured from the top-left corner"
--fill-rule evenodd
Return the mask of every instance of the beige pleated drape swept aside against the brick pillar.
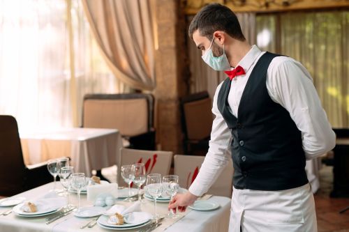
M 83 0 L 91 31 L 115 77 L 132 88 L 155 87 L 151 0 Z

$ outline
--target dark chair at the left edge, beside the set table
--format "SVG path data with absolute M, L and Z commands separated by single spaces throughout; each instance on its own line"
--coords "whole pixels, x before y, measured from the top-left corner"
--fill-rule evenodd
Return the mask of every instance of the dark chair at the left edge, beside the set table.
M 0 195 L 12 196 L 50 183 L 46 163 L 26 166 L 22 155 L 17 121 L 0 115 Z

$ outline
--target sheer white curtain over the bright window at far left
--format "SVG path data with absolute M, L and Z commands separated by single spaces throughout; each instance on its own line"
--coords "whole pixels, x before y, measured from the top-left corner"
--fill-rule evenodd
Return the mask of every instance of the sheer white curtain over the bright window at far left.
M 71 0 L 69 46 L 67 2 L 0 0 L 0 114 L 15 116 L 21 130 L 80 125 L 85 93 L 129 91 L 104 64 L 80 0 Z M 75 54 L 73 89 L 70 52 Z

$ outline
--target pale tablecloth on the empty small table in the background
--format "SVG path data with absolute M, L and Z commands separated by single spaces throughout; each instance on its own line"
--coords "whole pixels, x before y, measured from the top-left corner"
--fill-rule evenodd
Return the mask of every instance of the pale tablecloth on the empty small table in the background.
M 118 164 L 121 135 L 114 129 L 66 128 L 40 132 L 20 132 L 24 162 L 37 164 L 55 157 L 70 157 L 76 172 L 89 176 Z

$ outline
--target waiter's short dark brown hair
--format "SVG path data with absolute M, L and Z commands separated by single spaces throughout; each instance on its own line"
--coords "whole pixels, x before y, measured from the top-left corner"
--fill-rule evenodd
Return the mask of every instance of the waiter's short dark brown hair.
M 188 34 L 193 39 L 193 33 L 199 30 L 200 36 L 206 36 L 210 40 L 214 31 L 225 31 L 229 36 L 237 40 L 246 40 L 237 20 L 237 15 L 230 8 L 219 3 L 211 3 L 202 8 L 189 25 Z

